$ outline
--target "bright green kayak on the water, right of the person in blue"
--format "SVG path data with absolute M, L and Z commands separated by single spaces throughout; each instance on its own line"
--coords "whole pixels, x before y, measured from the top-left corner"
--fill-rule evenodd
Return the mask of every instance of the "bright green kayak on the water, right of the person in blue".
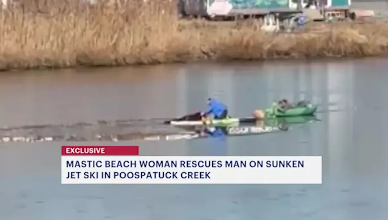
M 312 105 L 310 103 L 303 106 L 295 106 L 289 109 L 280 108 L 277 103 L 272 104 L 270 108 L 265 110 L 266 117 L 290 117 L 290 116 L 304 116 L 304 115 L 314 115 L 317 111 L 317 105 Z

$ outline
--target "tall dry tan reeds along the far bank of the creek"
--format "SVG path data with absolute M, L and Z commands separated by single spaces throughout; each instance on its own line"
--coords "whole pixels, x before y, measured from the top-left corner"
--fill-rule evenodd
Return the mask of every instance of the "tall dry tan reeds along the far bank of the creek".
M 0 14 L 0 69 L 130 65 L 198 59 L 385 54 L 388 25 L 332 24 L 270 34 L 253 23 L 178 21 L 175 3 L 19 0 Z

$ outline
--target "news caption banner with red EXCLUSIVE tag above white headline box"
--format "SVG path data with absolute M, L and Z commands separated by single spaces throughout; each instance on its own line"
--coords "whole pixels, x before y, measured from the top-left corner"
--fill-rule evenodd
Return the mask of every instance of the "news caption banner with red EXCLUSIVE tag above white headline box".
M 62 184 L 320 184 L 320 156 L 139 156 L 135 146 L 62 147 Z

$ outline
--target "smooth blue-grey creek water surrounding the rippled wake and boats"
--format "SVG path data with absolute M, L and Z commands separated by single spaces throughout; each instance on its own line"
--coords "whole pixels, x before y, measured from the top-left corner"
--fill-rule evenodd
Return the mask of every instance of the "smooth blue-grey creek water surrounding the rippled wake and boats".
M 4 125 L 171 117 L 209 96 L 249 115 L 280 98 L 320 104 L 321 122 L 288 132 L 191 141 L 134 141 L 142 155 L 322 155 L 322 185 L 61 185 L 64 143 L 0 145 L 4 220 L 385 220 L 386 59 L 192 64 L 6 73 Z M 71 143 L 66 143 L 67 145 Z

